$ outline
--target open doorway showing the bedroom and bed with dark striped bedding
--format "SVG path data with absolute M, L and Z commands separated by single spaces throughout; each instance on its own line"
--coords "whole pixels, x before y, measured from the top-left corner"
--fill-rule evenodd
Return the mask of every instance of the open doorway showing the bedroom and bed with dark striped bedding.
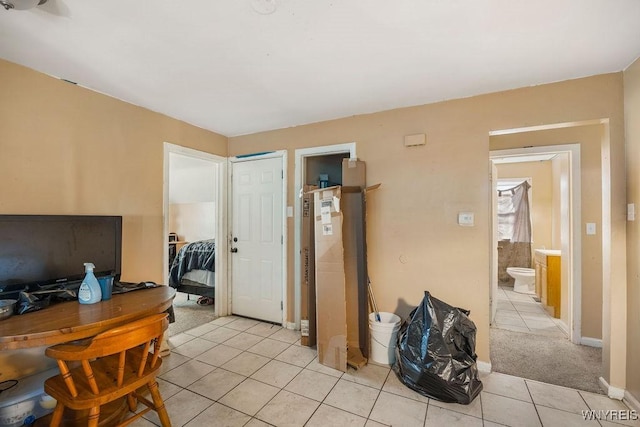
M 219 289 L 226 287 L 226 259 L 218 245 L 226 247 L 221 197 L 225 162 L 165 144 L 164 274 L 165 283 L 177 290 L 171 334 L 209 322 L 226 309 L 219 297 Z

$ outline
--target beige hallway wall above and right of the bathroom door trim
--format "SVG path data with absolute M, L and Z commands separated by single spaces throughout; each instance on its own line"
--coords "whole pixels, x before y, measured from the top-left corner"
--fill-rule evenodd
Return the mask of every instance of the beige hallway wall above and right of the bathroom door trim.
M 582 336 L 588 338 L 602 338 L 602 165 L 601 146 L 604 126 L 601 124 L 586 126 L 571 126 L 561 129 L 523 132 L 513 135 L 491 137 L 492 150 L 521 148 L 528 146 L 550 146 L 579 144 L 580 145 L 580 254 L 582 259 Z M 560 170 L 558 165 L 558 170 Z M 559 178 L 558 178 L 559 179 Z M 553 211 L 552 244 L 554 249 L 560 247 L 560 200 L 556 184 L 556 208 Z M 555 196 L 554 196 L 555 197 Z M 587 235 L 585 224 L 596 224 L 596 235 Z M 565 289 L 563 295 L 568 292 Z M 563 301 L 565 303 L 566 301 Z M 563 306 L 563 313 L 567 313 Z M 564 316 L 563 316 L 564 317 Z

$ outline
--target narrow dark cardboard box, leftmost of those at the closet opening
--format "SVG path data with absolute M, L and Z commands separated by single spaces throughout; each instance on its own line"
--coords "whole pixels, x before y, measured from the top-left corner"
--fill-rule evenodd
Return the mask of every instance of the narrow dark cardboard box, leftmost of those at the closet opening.
M 302 194 L 300 344 L 308 347 L 316 345 L 315 219 L 314 197 L 309 191 L 317 188 L 315 185 L 305 185 Z

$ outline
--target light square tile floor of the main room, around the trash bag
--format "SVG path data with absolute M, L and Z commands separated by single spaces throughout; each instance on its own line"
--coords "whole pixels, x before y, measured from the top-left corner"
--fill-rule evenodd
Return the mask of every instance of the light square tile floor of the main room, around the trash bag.
M 443 403 L 388 366 L 323 366 L 299 341 L 299 332 L 234 316 L 169 338 L 158 382 L 173 426 L 640 426 L 584 421 L 582 411 L 627 411 L 620 401 L 499 373 L 481 374 L 471 404 Z M 133 425 L 160 425 L 145 417 Z

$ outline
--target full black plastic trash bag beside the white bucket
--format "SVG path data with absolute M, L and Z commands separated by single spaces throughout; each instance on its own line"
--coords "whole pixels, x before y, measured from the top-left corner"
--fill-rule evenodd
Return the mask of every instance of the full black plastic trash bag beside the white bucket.
M 393 370 L 402 383 L 443 402 L 467 405 L 482 391 L 476 365 L 476 326 L 469 311 L 428 291 L 398 332 Z

